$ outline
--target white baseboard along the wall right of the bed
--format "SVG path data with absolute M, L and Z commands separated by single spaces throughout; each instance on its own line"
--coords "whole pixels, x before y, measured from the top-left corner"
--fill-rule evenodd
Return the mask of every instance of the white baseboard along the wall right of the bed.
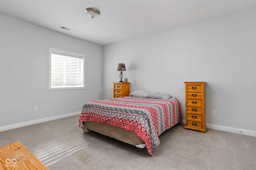
M 182 120 L 182 123 L 185 124 L 185 120 Z M 256 131 L 251 131 L 251 130 L 246 130 L 246 129 L 238 129 L 235 127 L 227 127 L 227 126 L 221 126 L 221 125 L 213 125 L 213 124 L 208 124 L 206 123 L 207 128 L 209 129 L 215 129 L 219 131 L 226 131 L 226 132 L 232 132 L 232 133 L 238 133 L 238 134 L 243 134 L 243 135 L 249 135 L 256 137 Z

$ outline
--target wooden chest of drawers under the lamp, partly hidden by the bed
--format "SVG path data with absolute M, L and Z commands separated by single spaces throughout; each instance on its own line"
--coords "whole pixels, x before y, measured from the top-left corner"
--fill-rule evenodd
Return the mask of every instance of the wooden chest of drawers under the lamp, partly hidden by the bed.
M 130 82 L 113 82 L 114 84 L 114 98 L 129 96 Z

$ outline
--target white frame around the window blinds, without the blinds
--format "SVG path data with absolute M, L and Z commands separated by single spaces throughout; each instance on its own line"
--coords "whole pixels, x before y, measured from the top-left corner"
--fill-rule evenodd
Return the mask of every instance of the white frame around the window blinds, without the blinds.
M 74 58 L 82 58 L 84 61 L 83 66 L 83 86 L 82 87 L 54 87 L 51 86 L 51 76 L 52 76 L 52 51 L 55 51 L 56 53 L 66 55 L 68 57 L 74 57 Z M 54 49 L 49 47 L 49 65 L 48 65 L 48 90 L 73 90 L 73 89 L 85 89 L 85 55 L 78 54 L 70 51 L 64 51 L 60 49 Z

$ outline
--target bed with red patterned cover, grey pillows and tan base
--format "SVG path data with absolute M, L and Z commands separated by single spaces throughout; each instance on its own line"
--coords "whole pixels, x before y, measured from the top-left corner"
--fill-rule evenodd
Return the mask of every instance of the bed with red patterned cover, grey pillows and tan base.
M 163 98 L 165 93 L 132 94 L 86 102 L 79 126 L 85 132 L 92 130 L 139 148 L 146 147 L 154 156 L 152 151 L 160 143 L 159 135 L 181 122 L 180 103 L 170 95 Z

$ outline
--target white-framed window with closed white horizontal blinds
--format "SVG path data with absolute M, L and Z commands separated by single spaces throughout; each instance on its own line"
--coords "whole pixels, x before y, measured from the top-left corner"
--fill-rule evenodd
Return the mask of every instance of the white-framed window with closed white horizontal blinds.
M 48 90 L 84 89 L 85 55 L 49 48 Z

